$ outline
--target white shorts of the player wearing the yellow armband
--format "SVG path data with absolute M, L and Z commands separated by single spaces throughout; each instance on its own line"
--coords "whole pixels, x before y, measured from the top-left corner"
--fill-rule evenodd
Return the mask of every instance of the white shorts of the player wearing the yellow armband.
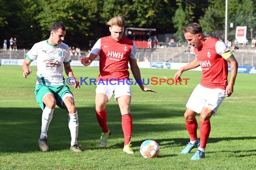
M 210 89 L 199 84 L 190 95 L 186 107 L 196 113 L 201 113 L 203 107 L 207 107 L 213 110 L 215 115 L 225 96 L 226 91 L 223 89 Z

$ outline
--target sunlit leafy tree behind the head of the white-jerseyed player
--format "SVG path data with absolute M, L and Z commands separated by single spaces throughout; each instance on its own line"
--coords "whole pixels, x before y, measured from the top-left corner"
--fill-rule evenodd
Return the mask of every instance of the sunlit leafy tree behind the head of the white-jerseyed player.
M 39 22 L 44 38 L 49 36 L 49 27 L 54 21 L 65 24 L 67 30 L 65 41 L 69 45 L 84 46 L 88 40 L 86 37 L 93 35 L 92 26 L 98 18 L 97 1 L 62 0 L 60 5 L 59 0 L 38 0 L 38 4 L 42 4 L 42 10 L 35 18 Z

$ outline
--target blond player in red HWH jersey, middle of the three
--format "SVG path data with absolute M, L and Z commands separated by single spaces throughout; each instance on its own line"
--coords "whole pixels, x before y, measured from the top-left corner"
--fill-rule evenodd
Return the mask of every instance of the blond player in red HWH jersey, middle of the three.
M 86 57 L 81 58 L 85 66 L 100 56 L 100 74 L 98 76 L 95 104 L 99 125 L 102 127 L 102 136 L 99 141 L 101 148 L 106 147 L 110 130 L 107 127 L 106 103 L 111 96 L 119 104 L 122 115 L 122 128 L 124 132 L 124 149 L 128 154 L 133 154 L 131 149 L 132 116 L 130 110 L 131 83 L 129 83 L 128 63 L 138 85 L 142 91 L 156 92 L 146 88 L 141 81 L 140 69 L 136 61 L 136 45 L 132 40 L 123 37 L 126 22 L 121 16 L 110 19 L 106 25 L 110 26 L 111 35 L 97 40 L 92 50 Z

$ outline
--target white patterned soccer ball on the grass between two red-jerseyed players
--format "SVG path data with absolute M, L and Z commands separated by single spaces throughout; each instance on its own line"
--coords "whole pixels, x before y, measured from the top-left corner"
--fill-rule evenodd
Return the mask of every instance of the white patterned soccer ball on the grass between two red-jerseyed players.
M 159 144 L 154 140 L 145 140 L 141 144 L 140 148 L 141 155 L 143 157 L 158 157 L 160 152 Z

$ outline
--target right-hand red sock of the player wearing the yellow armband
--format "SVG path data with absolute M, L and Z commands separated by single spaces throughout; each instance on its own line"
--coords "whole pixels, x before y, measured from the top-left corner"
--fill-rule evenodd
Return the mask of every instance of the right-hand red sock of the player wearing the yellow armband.
M 200 121 L 200 123 L 200 148 L 205 148 L 211 132 L 211 122 L 207 120 L 205 122 Z

